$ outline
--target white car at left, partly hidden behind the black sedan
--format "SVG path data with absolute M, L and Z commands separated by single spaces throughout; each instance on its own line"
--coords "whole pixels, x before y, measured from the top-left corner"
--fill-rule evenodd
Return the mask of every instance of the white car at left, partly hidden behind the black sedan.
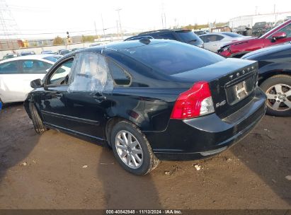
M 0 62 L 0 102 L 14 103 L 25 100 L 33 90 L 30 81 L 42 79 L 57 59 L 58 54 L 33 54 L 14 57 Z

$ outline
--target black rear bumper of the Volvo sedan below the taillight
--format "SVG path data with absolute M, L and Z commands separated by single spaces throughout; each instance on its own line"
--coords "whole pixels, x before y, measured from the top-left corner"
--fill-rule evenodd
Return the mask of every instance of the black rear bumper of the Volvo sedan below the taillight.
M 224 151 L 251 132 L 266 112 L 266 95 L 256 95 L 241 110 L 224 119 L 216 114 L 190 120 L 170 120 L 164 132 L 144 132 L 157 158 L 194 160 Z

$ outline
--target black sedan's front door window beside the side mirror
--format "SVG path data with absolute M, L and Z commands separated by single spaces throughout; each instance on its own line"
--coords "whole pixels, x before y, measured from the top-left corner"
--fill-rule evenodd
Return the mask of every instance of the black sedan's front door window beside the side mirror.
M 67 62 L 60 64 L 55 72 L 50 76 L 48 84 L 52 85 L 63 85 L 67 84 L 69 81 L 69 74 L 71 72 L 72 64 L 74 59 L 69 59 Z

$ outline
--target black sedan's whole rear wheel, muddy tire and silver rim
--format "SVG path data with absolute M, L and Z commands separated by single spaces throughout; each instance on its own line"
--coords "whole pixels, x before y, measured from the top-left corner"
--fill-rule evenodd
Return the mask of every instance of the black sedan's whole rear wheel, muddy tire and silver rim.
M 115 124 L 110 132 L 110 143 L 118 163 L 132 174 L 146 175 L 159 165 L 159 159 L 154 156 L 149 141 L 131 122 Z

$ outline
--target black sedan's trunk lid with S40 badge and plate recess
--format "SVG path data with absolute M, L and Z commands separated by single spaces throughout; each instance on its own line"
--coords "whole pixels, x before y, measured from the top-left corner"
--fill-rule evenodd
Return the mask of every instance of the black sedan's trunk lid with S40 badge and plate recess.
M 258 64 L 242 59 L 225 59 L 217 64 L 172 76 L 191 83 L 207 81 L 215 112 L 224 118 L 243 108 L 253 99 L 258 81 Z

